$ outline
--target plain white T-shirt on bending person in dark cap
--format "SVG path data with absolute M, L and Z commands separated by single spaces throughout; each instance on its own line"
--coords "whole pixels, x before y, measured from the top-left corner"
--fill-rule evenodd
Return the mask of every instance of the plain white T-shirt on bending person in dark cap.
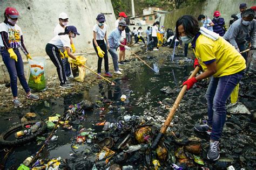
M 63 36 L 55 36 L 48 43 L 55 45 L 56 47 L 58 47 L 58 49 L 60 49 L 62 47 L 71 48 L 70 38 L 69 38 L 68 34 L 65 34 Z

